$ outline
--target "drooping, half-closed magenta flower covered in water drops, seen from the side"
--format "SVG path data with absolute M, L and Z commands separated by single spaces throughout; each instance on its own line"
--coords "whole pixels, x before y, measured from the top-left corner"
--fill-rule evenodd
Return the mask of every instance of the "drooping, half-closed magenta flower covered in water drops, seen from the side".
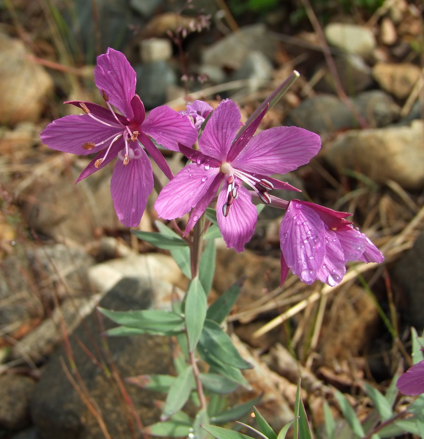
M 316 279 L 334 286 L 348 261 L 380 263 L 380 250 L 345 219 L 350 213 L 291 200 L 281 221 L 281 283 L 289 268 L 306 284 Z

